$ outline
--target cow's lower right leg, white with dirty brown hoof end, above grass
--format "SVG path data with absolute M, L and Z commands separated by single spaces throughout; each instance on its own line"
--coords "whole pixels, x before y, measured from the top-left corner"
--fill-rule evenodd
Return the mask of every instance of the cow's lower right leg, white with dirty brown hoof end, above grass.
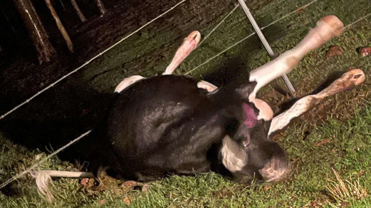
M 321 102 L 325 97 L 355 87 L 361 84 L 364 80 L 365 74 L 363 73 L 363 71 L 355 68 L 344 73 L 340 78 L 335 80 L 321 92 L 299 99 L 288 110 L 272 118 L 272 122 L 270 124 L 268 132 L 268 138 L 270 134 L 286 127 L 293 118 L 302 115 L 303 113 L 311 109 L 314 105 Z

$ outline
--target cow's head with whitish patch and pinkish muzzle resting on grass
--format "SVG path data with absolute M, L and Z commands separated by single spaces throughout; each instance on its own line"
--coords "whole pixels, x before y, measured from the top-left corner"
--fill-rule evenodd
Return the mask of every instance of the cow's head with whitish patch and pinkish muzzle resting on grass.
M 239 125 L 233 136 L 223 138 L 222 163 L 236 179 L 263 178 L 278 181 L 289 170 L 285 151 L 267 138 L 270 121 L 260 120 L 252 128 Z

